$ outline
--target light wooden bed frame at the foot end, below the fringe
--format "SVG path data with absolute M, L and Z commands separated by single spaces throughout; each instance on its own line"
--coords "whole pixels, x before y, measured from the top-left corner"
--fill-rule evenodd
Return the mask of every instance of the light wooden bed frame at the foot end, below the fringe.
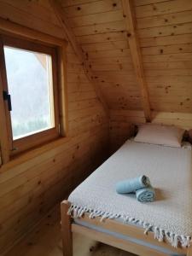
M 167 256 L 166 253 L 160 253 L 153 248 L 145 247 L 143 245 L 125 241 L 123 239 L 108 235 L 103 232 L 96 230 L 91 230 L 79 224 L 73 222 L 73 218 L 67 215 L 67 211 L 70 207 L 68 201 L 61 202 L 61 234 L 62 234 L 62 245 L 63 245 L 63 256 L 73 256 L 73 232 L 79 233 L 83 236 L 88 236 L 89 238 L 95 241 L 101 241 L 113 247 L 118 247 L 130 253 L 136 253 L 141 256 Z M 154 239 L 154 233 L 148 232 L 147 236 L 143 236 L 143 229 L 138 228 L 137 226 L 126 225 L 117 223 L 113 219 L 105 219 L 103 222 L 100 221 L 100 218 L 89 218 L 88 214 L 84 214 L 82 218 L 87 224 L 94 224 L 97 227 L 104 228 L 108 231 L 113 231 L 124 236 L 131 236 L 141 241 L 149 242 L 154 246 L 164 247 L 172 250 L 174 253 L 186 254 L 187 256 L 192 256 L 192 247 L 182 248 L 182 247 L 172 247 L 168 241 L 157 241 Z

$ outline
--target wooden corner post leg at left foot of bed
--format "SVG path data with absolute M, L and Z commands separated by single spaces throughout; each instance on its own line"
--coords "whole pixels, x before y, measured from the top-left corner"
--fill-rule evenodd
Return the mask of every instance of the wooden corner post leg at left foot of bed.
M 68 201 L 61 202 L 61 236 L 63 256 L 73 256 L 72 219 L 67 215 L 69 207 L 70 203 Z

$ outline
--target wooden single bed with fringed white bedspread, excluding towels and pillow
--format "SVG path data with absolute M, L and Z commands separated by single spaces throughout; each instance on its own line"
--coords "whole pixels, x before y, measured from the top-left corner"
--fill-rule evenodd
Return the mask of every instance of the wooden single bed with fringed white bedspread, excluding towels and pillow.
M 128 140 L 61 202 L 63 253 L 72 233 L 138 255 L 192 255 L 192 151 Z M 156 191 L 152 203 L 118 195 L 115 183 L 141 174 Z

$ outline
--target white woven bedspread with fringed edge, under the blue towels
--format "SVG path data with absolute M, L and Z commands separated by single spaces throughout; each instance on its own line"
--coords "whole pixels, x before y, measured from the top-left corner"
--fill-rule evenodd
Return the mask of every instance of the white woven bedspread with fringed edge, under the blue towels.
M 127 141 L 84 180 L 69 196 L 70 213 L 90 218 L 123 218 L 143 225 L 154 237 L 177 247 L 189 246 L 192 236 L 192 151 Z M 119 195 L 119 180 L 147 175 L 156 189 L 156 200 L 140 203 L 135 195 Z

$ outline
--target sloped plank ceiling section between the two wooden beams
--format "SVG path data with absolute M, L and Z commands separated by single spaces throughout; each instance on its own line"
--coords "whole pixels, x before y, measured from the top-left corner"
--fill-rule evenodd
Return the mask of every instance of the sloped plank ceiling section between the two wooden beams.
M 60 2 L 108 107 L 142 110 L 121 1 Z

